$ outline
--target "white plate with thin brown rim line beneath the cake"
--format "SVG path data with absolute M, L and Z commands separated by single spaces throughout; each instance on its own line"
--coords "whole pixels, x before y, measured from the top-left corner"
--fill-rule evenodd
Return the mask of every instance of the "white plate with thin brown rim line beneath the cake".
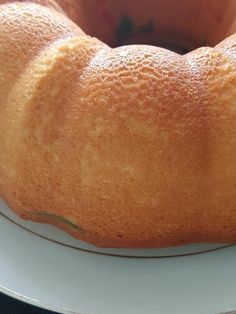
M 17 299 L 79 314 L 236 310 L 236 246 L 98 249 L 0 209 L 0 291 Z

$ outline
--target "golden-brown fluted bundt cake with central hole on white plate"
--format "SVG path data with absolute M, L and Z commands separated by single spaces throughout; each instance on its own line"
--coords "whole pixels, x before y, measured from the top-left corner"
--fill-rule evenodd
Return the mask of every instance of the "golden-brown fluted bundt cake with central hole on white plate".
M 235 32 L 234 0 L 0 0 L 1 198 L 98 246 L 236 242 Z

